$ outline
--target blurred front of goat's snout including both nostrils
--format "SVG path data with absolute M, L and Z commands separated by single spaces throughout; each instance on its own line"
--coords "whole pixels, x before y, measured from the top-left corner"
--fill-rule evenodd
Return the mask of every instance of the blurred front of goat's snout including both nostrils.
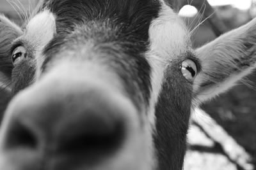
M 126 138 L 125 115 L 134 109 L 106 89 L 83 89 L 45 86 L 18 94 L 6 111 L 1 152 L 24 169 L 93 166 L 115 155 Z

